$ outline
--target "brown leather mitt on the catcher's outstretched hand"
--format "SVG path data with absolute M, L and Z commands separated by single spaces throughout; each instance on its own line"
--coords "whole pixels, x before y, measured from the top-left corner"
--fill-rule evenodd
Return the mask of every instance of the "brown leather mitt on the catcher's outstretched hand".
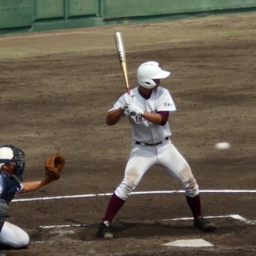
M 44 161 L 45 178 L 47 181 L 56 181 L 59 179 L 59 172 L 65 165 L 65 157 L 61 154 L 52 154 Z

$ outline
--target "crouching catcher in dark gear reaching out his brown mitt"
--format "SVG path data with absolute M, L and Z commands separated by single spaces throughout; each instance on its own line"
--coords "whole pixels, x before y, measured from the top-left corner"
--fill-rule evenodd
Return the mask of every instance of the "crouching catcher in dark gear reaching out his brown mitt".
M 44 163 L 44 180 L 23 182 L 24 152 L 14 145 L 0 145 L 0 248 L 26 248 L 29 245 L 28 233 L 6 221 L 8 204 L 17 193 L 37 190 L 59 179 L 64 165 L 65 158 L 60 154 L 50 155 Z

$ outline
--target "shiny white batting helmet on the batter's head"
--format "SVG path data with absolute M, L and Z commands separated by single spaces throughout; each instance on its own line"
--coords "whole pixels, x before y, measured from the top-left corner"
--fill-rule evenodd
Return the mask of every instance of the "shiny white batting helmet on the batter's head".
M 164 71 L 160 64 L 155 61 L 142 63 L 137 70 L 139 85 L 147 89 L 155 87 L 157 84 L 153 79 L 167 78 L 171 72 Z

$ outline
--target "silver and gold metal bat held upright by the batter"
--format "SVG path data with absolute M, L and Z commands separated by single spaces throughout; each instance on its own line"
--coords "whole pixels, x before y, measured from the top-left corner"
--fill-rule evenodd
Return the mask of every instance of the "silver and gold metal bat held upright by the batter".
M 115 44 L 117 46 L 118 59 L 120 61 L 120 66 L 123 72 L 126 92 L 130 94 L 130 85 L 129 85 L 128 75 L 127 75 L 127 65 L 126 65 L 126 53 L 123 46 L 123 38 L 122 38 L 121 32 L 119 31 L 115 32 L 114 39 L 115 39 Z

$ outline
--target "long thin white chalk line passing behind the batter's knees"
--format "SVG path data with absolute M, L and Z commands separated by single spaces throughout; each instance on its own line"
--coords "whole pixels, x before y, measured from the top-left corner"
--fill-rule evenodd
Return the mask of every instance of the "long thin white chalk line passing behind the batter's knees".
M 200 193 L 256 193 L 256 190 L 200 190 Z M 73 199 L 73 198 L 84 198 L 84 197 L 108 197 L 113 193 L 105 194 L 82 194 L 72 196 L 57 196 L 57 197 L 35 197 L 35 198 L 21 198 L 14 199 L 12 202 L 28 202 L 38 200 L 56 200 L 56 199 Z M 184 190 L 157 190 L 157 191 L 137 191 L 132 192 L 133 195 L 143 194 L 184 194 Z

